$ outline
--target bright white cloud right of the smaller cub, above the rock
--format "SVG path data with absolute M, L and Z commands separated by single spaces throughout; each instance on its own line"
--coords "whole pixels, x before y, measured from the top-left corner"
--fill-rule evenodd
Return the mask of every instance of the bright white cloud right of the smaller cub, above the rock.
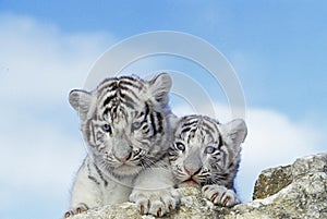
M 323 153 L 323 131 L 266 109 L 247 109 L 249 135 L 243 145 L 238 187 L 251 199 L 252 187 L 264 169 L 291 165 L 296 158 Z

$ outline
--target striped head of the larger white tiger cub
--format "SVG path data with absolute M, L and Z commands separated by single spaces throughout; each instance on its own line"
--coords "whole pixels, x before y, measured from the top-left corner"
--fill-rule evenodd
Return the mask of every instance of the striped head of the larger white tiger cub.
M 137 174 L 167 151 L 168 93 L 171 78 L 110 77 L 93 92 L 74 89 L 69 101 L 78 112 L 88 155 L 118 179 Z

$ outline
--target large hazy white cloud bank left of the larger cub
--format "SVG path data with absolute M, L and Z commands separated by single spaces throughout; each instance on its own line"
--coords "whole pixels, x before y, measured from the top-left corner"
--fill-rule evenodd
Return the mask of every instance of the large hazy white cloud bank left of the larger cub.
M 35 210 L 51 203 L 60 217 L 85 156 L 68 94 L 83 87 L 92 64 L 113 39 L 102 33 L 65 34 L 12 14 L 0 14 L 0 184 L 8 188 L 0 217 L 21 218 L 8 210 L 22 200 L 35 202 L 28 204 Z M 40 218 L 52 218 L 51 210 L 43 210 L 49 215 Z

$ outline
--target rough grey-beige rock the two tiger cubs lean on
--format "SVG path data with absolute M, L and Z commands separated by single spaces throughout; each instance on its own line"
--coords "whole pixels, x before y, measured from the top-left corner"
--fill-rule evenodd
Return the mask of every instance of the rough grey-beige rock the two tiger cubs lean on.
M 218 218 L 327 218 L 327 154 L 298 159 L 293 165 L 264 170 L 254 188 L 254 200 L 225 208 L 204 199 L 196 187 L 178 188 L 181 206 L 164 219 Z M 72 219 L 154 219 L 141 216 L 134 204 L 104 206 Z

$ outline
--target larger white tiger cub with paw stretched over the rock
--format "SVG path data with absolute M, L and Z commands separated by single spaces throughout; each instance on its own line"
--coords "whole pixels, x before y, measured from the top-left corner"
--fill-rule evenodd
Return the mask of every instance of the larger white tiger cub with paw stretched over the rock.
M 70 93 L 88 154 L 65 217 L 128 200 L 136 203 L 141 214 L 155 216 L 177 207 L 179 194 L 172 187 L 167 154 L 172 135 L 170 87 L 170 76 L 161 73 L 149 82 L 137 76 L 111 77 L 90 93 Z

